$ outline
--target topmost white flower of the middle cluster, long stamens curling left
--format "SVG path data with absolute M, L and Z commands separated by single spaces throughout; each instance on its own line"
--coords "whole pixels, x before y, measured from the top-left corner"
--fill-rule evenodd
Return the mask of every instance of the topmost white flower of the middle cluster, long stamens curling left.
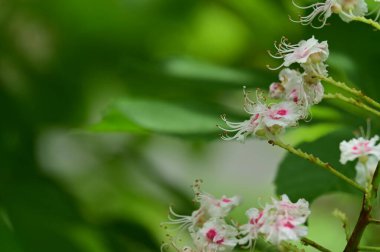
M 270 68 L 272 70 L 299 63 L 305 71 L 313 70 L 313 72 L 320 73 L 318 67 L 323 68 L 324 61 L 329 56 L 327 41 L 319 43 L 314 36 L 308 40 L 301 40 L 295 45 L 289 44 L 287 39 L 282 38 L 278 45 L 275 43 L 275 48 L 277 49 L 276 55 L 269 54 L 273 58 L 284 59 L 284 62 L 279 67 Z

